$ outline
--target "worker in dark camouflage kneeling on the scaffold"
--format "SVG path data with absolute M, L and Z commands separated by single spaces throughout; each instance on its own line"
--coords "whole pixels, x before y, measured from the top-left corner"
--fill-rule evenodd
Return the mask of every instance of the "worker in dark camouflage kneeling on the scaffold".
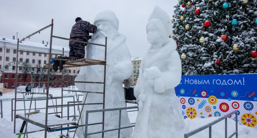
M 88 42 L 91 39 L 89 33 L 95 33 L 97 31 L 97 27 L 95 25 L 90 24 L 88 21 L 83 21 L 80 17 L 75 19 L 76 23 L 73 25 L 70 33 L 70 39 L 79 40 L 83 42 Z M 69 57 L 61 57 L 58 56 L 60 59 L 70 59 L 70 60 L 77 60 L 83 59 L 85 57 L 85 46 L 87 44 L 69 41 Z M 63 60 L 54 60 L 54 71 L 63 69 L 63 64 L 65 61 Z

